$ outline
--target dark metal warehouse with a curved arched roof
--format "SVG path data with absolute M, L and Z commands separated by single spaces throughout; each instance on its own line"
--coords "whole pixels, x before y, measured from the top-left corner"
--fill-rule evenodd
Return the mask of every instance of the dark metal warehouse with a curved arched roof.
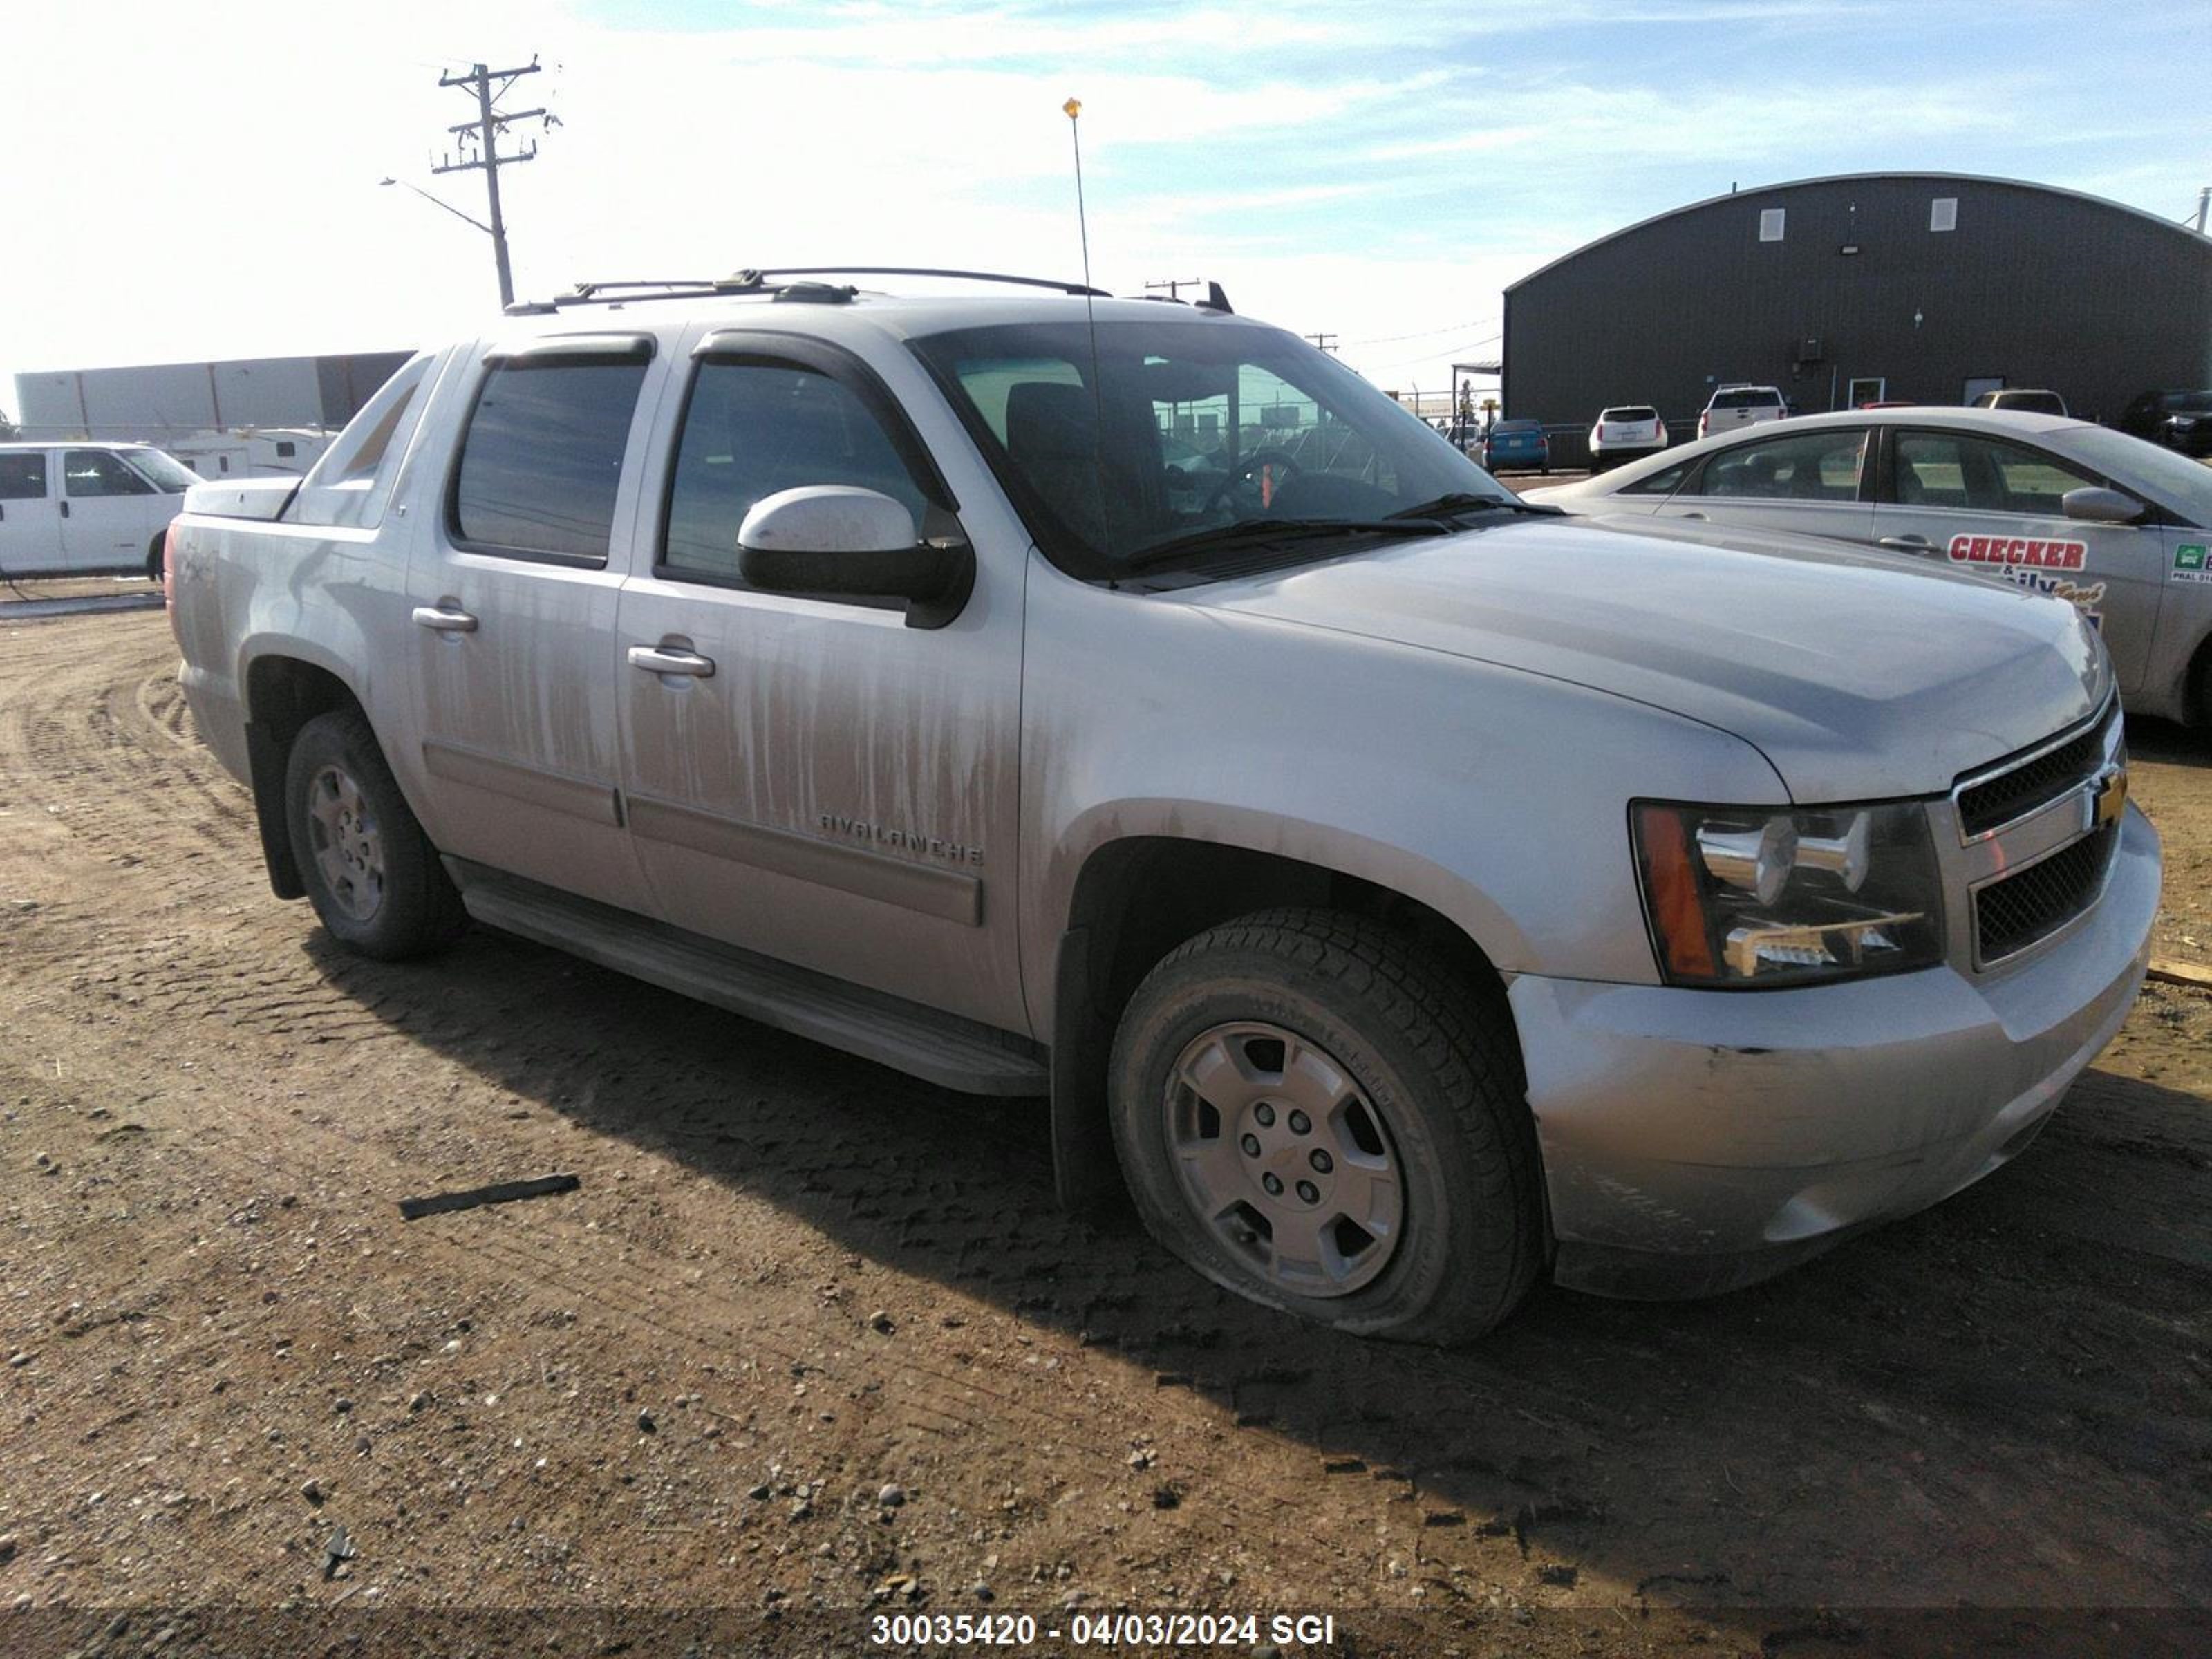
M 2212 387 L 2212 239 L 2077 190 L 1858 173 L 1677 208 L 1506 290 L 1504 409 L 1575 427 L 1562 460 L 1615 403 L 1690 438 L 1728 380 L 1801 414 L 2051 387 L 2110 420 Z

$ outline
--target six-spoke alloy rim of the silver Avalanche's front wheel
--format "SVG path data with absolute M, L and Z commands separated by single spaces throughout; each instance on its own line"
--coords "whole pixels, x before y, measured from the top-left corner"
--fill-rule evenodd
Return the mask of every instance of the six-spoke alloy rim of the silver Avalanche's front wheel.
M 1237 1020 L 1168 1071 L 1164 1128 L 1183 1197 L 1276 1290 L 1349 1296 L 1405 1234 L 1405 1170 L 1352 1073 L 1287 1026 Z

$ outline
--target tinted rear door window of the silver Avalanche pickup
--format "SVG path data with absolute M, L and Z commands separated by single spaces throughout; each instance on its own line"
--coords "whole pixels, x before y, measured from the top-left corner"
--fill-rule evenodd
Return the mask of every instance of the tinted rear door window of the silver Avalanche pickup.
M 462 440 L 453 540 L 606 562 L 644 363 L 502 363 Z

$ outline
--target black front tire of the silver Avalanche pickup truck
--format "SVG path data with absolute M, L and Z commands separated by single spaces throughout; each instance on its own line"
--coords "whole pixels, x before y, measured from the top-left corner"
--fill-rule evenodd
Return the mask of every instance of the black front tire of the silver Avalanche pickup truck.
M 1283 1124 L 1296 1128 L 1305 1113 L 1254 1119 L 1274 1106 L 1261 1099 L 1230 1121 L 1199 1091 L 1177 1084 L 1188 1068 L 1203 1066 L 1228 1031 L 1230 1042 L 1248 1044 L 1248 1062 L 1261 1060 L 1261 1082 L 1248 1086 L 1290 1088 L 1287 1048 L 1276 1044 L 1279 1075 L 1270 1082 L 1263 1064 L 1270 1037 L 1252 1035 L 1252 1026 L 1281 1029 L 1307 1055 L 1334 1064 L 1352 1086 L 1336 1115 L 1349 1117 L 1354 1130 L 1365 1117 L 1367 1135 L 1358 1139 L 1380 1144 L 1380 1166 L 1396 1170 L 1402 1192 L 1396 1237 L 1380 1265 L 1358 1270 L 1371 1274 L 1365 1281 L 1354 1283 L 1347 1265 L 1334 1283 L 1307 1276 L 1285 1285 L 1283 1265 L 1267 1261 L 1276 1245 L 1272 1223 L 1261 1237 L 1259 1223 L 1270 1219 L 1261 1206 L 1283 1214 L 1290 1254 L 1307 1232 L 1332 1239 L 1343 1263 L 1365 1259 L 1363 1237 L 1374 1241 L 1354 1223 L 1347 1245 L 1345 1219 L 1329 1219 L 1332 1206 L 1358 1201 L 1340 1197 L 1352 1192 L 1349 1168 L 1340 1170 L 1343 1186 L 1316 1203 L 1303 1203 L 1310 1188 L 1298 1181 L 1296 1214 L 1287 1214 L 1292 1194 L 1281 1179 L 1274 1197 L 1261 1194 L 1267 1175 L 1303 1175 L 1298 1159 L 1314 1157 L 1287 1128 L 1279 1133 Z M 1192 1053 L 1201 1060 L 1192 1062 Z M 1108 1099 L 1121 1170 L 1146 1228 L 1217 1285 L 1256 1303 L 1363 1336 L 1467 1343 L 1506 1318 L 1544 1265 L 1535 1126 L 1511 1024 L 1502 1006 L 1378 922 L 1276 909 L 1223 922 L 1179 947 L 1146 975 L 1121 1015 Z M 1203 1130 L 1208 1113 L 1212 1139 Z M 1254 1130 L 1254 1121 L 1265 1128 Z M 1186 1135 L 1179 1124 L 1194 1128 Z M 1250 1152 L 1252 1135 L 1272 1141 Z M 1340 1164 L 1354 1161 L 1343 1137 L 1323 1146 L 1336 1146 Z M 1201 1166 L 1228 1172 L 1228 1186 L 1208 1188 L 1203 1175 L 1186 1175 Z M 1223 1210 L 1221 1194 L 1239 1179 L 1250 1192 Z M 1321 1252 L 1323 1265 L 1332 1248 Z M 1318 1285 L 1318 1294 L 1303 1283 Z

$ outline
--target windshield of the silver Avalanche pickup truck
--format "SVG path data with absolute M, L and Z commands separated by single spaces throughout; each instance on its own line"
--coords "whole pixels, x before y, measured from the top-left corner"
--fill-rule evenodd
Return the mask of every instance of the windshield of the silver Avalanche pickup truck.
M 1099 321 L 1095 358 L 1082 321 L 931 334 L 914 352 L 1037 544 L 1093 580 L 1252 557 L 1270 526 L 1283 557 L 1329 557 L 1367 526 L 1402 531 L 1409 509 L 1515 500 L 1343 363 L 1256 323 Z

